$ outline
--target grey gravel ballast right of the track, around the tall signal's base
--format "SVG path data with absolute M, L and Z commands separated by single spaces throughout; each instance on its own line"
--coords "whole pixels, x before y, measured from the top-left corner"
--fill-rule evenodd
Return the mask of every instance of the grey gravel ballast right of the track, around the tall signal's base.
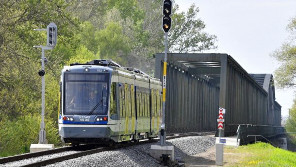
M 208 136 L 190 136 L 166 141 L 175 146 L 175 157 L 182 160 L 205 152 L 214 147 L 215 138 Z M 162 167 L 161 162 L 152 158 L 150 146 L 158 142 L 132 146 L 128 148 L 104 151 L 79 158 L 57 162 L 46 167 Z

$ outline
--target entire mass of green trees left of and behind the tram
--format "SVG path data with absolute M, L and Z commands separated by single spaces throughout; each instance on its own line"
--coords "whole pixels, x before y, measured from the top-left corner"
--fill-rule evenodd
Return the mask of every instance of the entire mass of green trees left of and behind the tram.
M 215 48 L 215 36 L 202 32 L 205 25 L 195 18 L 197 12 L 192 6 L 187 13 L 174 13 L 171 51 Z M 0 156 L 28 152 L 30 144 L 38 142 L 41 50 L 33 46 L 46 45 L 46 33 L 33 29 L 50 22 L 58 27 L 57 46 L 45 51 L 45 120 L 47 139 L 60 146 L 57 113 L 63 66 L 113 59 L 153 74 L 153 54 L 164 50 L 161 21 L 162 0 L 0 0 Z

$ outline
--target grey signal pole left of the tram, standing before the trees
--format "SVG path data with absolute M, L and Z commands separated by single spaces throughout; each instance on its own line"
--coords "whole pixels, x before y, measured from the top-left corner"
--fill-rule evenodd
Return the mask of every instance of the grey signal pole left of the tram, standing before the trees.
M 47 46 L 33 46 L 34 48 L 41 48 L 41 69 L 38 71 L 38 75 L 42 78 L 42 89 L 41 89 L 41 123 L 39 132 L 39 144 L 47 144 L 46 131 L 44 123 L 44 110 L 45 110 L 45 57 L 44 50 L 52 50 L 57 42 L 57 26 L 54 23 L 49 23 L 47 29 L 34 29 L 34 31 L 47 31 Z

